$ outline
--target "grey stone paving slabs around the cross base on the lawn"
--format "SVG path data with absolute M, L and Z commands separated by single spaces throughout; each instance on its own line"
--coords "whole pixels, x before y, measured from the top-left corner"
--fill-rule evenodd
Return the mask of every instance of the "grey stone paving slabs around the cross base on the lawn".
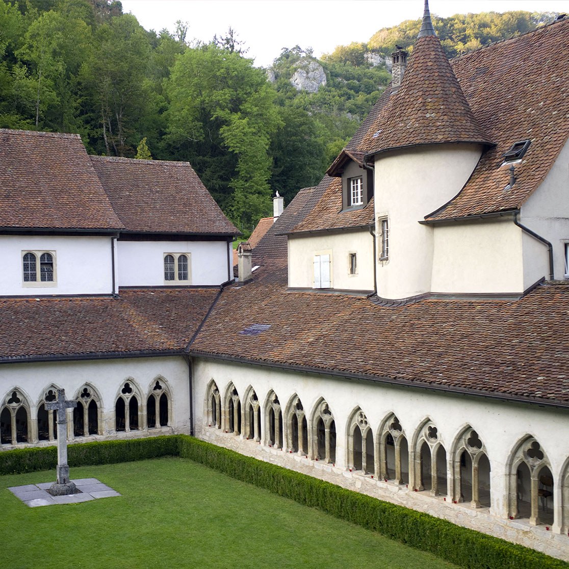
M 66 494 L 64 496 L 52 496 L 47 492 L 52 482 L 42 482 L 40 484 L 26 484 L 24 486 L 10 486 L 11 493 L 22 500 L 30 508 L 38 506 L 52 506 L 54 504 L 79 504 L 98 498 L 110 498 L 120 496 L 116 490 L 98 481 L 96 478 L 81 478 L 72 480 L 81 492 L 77 494 Z

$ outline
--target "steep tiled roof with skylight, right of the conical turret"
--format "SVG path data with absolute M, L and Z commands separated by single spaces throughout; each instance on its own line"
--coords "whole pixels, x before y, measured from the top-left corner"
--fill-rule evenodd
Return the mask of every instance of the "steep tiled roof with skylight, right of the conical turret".
M 430 218 L 519 209 L 569 137 L 569 19 L 469 53 L 452 67 L 496 146 L 483 154 L 459 195 Z M 502 155 L 526 139 L 529 149 L 514 164 L 516 184 L 504 191 L 510 174 Z

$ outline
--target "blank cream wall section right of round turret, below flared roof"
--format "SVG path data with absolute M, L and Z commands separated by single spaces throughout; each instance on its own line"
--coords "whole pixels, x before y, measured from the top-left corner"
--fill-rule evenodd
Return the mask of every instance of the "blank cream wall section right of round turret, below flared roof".
M 434 227 L 432 292 L 519 294 L 524 268 L 522 233 L 510 217 Z

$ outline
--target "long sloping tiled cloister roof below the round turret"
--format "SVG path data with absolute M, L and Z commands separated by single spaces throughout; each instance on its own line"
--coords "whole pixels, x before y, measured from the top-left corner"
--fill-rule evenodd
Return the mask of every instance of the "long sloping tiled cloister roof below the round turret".
M 521 300 L 386 308 L 261 278 L 224 291 L 192 353 L 569 404 L 568 310 L 567 285 L 540 286 Z M 271 328 L 239 335 L 251 324 Z

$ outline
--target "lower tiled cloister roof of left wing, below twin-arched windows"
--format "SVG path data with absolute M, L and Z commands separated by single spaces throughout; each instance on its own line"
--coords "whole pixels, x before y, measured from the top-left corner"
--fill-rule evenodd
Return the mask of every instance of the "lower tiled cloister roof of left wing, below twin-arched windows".
M 181 352 L 217 288 L 121 290 L 117 299 L 0 298 L 0 361 L 100 353 Z

